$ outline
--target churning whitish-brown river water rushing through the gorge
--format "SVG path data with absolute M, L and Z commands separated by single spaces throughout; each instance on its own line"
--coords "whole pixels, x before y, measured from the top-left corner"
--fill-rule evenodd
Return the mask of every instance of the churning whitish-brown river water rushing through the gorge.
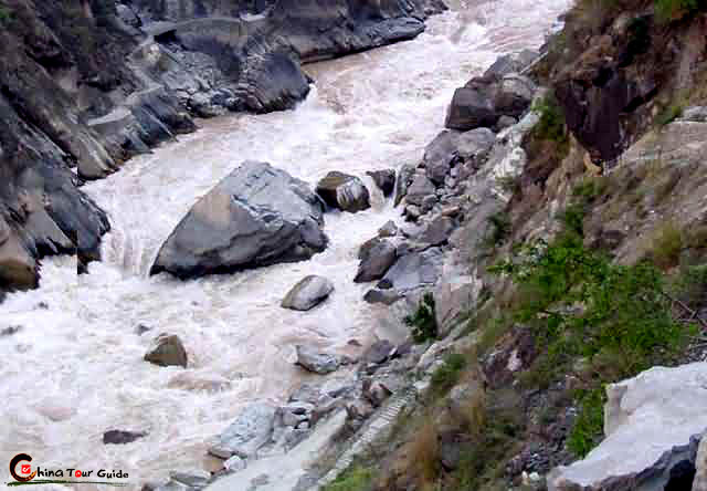
M 499 54 L 537 48 L 568 1 L 454 3 L 414 41 L 308 65 L 316 85 L 295 111 L 203 122 L 84 188 L 113 224 L 104 262 L 77 278 L 72 259 L 46 260 L 40 290 L 0 307 L 0 328 L 23 326 L 0 337 L 2 482 L 3 462 L 20 451 L 46 468 L 123 469 L 133 482 L 202 468 L 210 439 L 239 407 L 281 401 L 304 379 L 295 344 L 345 351 L 352 338 L 394 335 L 377 327 L 383 311 L 352 282 L 358 245 L 398 219 L 379 194 L 368 211 L 328 213 L 331 243 L 310 261 L 188 282 L 147 272 L 196 200 L 245 159 L 313 184 L 329 170 L 365 177 L 419 160 L 454 88 Z M 306 274 L 329 278 L 333 296 L 308 313 L 281 309 Z M 139 324 L 151 331 L 138 335 Z M 161 332 L 182 338 L 188 369 L 143 361 Z M 148 435 L 104 446 L 108 429 Z

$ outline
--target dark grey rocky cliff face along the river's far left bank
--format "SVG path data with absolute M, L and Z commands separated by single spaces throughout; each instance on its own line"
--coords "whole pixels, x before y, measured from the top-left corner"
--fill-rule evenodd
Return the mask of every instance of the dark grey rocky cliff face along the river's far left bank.
M 410 39 L 440 0 L 0 1 L 0 289 L 38 260 L 97 259 L 109 229 L 83 180 L 196 128 L 292 107 L 302 63 Z

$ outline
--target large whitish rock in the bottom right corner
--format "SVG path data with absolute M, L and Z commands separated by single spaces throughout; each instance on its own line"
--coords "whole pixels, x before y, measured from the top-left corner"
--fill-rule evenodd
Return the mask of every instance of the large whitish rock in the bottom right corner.
M 553 469 L 549 491 L 673 489 L 685 462 L 694 471 L 707 430 L 707 363 L 654 367 L 606 394 L 605 439 L 583 460 Z

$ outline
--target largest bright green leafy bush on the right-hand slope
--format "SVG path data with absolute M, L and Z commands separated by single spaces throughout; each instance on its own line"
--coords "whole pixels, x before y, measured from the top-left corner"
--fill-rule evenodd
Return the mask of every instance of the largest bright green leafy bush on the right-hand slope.
M 547 387 L 582 361 L 580 407 L 568 448 L 583 457 L 601 438 L 603 386 L 669 362 L 692 328 L 673 317 L 673 301 L 661 270 L 648 261 L 613 264 L 601 251 L 583 245 L 585 206 L 601 192 L 582 184 L 560 219 L 564 231 L 551 242 L 526 244 L 492 271 L 510 275 L 519 289 L 515 321 L 531 328 L 546 352 L 524 376 Z M 680 250 L 679 231 L 665 229 L 653 257 L 672 262 Z M 678 238 L 678 239 L 676 239 Z M 676 245 L 677 243 L 677 245 Z M 689 284 L 707 284 L 694 271 Z M 693 290 L 690 290 L 693 291 Z

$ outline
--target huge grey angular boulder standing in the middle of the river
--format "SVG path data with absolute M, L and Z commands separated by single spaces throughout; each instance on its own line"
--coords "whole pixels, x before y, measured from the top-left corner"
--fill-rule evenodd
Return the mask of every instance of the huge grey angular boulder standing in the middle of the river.
M 306 182 L 246 161 L 191 208 L 150 274 L 186 279 L 309 259 L 327 243 L 321 215 Z

